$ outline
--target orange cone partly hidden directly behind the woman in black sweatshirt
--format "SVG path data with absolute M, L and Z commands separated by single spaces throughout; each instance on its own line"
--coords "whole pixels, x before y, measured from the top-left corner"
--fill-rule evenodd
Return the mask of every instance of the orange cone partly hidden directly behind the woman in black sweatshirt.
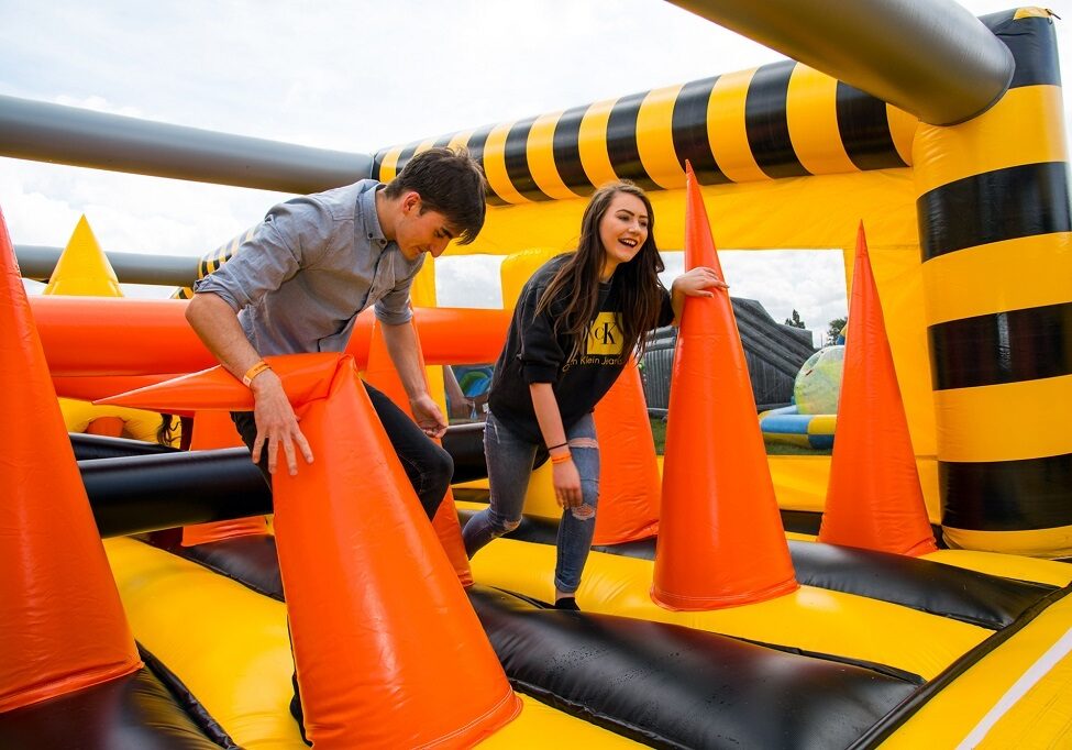
M 599 512 L 594 544 L 621 544 L 659 533 L 661 495 L 655 442 L 637 361 L 596 406 L 599 441 Z

